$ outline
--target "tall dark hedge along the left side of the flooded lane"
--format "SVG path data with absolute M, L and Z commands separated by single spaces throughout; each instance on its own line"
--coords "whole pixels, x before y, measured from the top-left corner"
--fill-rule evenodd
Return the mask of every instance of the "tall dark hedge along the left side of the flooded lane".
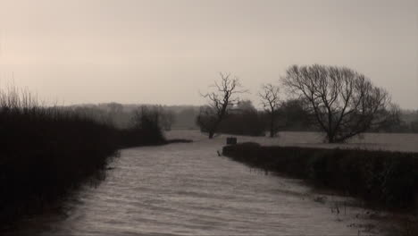
M 157 109 L 137 109 L 123 129 L 99 116 L 39 105 L 20 89 L 0 90 L 0 225 L 102 178 L 121 147 L 166 143 Z

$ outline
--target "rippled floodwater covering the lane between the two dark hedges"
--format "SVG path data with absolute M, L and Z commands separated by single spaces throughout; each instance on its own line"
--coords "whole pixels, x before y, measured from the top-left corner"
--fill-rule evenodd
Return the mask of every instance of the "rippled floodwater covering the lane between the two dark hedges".
M 169 134 L 172 135 L 172 134 Z M 96 188 L 28 219 L 40 235 L 378 235 L 353 199 L 218 156 L 224 137 L 121 150 Z M 359 216 L 360 215 L 360 216 Z M 377 225 L 377 226 L 376 226 Z

